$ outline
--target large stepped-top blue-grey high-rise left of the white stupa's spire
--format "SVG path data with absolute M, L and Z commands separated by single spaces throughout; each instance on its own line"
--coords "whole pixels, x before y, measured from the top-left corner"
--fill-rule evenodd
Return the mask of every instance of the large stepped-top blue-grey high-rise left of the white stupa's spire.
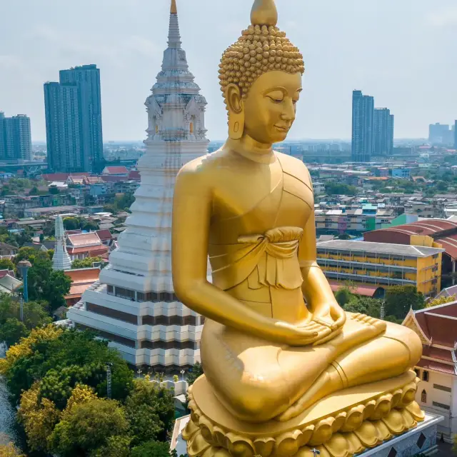
M 59 83 L 44 84 L 46 140 L 51 171 L 103 168 L 100 70 L 96 65 L 61 70 Z

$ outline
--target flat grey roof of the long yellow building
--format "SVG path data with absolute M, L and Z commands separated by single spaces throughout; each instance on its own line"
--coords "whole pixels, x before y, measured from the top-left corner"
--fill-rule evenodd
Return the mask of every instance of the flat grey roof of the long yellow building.
M 428 257 L 444 252 L 440 248 L 424 246 L 408 246 L 405 244 L 370 243 L 368 241 L 332 240 L 317 243 L 318 249 L 331 249 L 338 251 L 363 251 L 368 253 L 392 254 L 408 257 Z

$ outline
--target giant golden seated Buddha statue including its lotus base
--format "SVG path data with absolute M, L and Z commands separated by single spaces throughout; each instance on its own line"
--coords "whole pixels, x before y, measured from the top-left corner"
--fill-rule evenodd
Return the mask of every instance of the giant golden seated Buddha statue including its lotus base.
M 190 456 L 312 456 L 307 445 L 352 456 L 423 418 L 411 371 L 421 341 L 338 306 L 316 262 L 311 176 L 272 149 L 304 72 L 276 22 L 274 1 L 256 0 L 221 59 L 229 139 L 176 178 L 174 288 L 206 316 Z

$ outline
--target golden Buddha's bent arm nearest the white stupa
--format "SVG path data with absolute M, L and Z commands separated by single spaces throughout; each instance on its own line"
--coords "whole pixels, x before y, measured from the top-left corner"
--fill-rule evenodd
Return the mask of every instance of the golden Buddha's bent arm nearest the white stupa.
M 191 166 L 180 171 L 174 191 L 172 269 L 176 295 L 196 313 L 226 326 L 273 341 L 287 340 L 290 328 L 256 313 L 207 281 L 212 191 L 209 176 Z M 303 331 L 300 338 L 307 335 Z

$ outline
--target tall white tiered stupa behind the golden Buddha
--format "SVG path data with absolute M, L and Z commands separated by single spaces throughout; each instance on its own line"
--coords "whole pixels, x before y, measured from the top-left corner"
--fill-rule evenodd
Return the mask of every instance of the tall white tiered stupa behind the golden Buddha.
M 146 100 L 149 127 L 140 159 L 141 186 L 127 229 L 109 266 L 67 316 L 77 327 L 109 339 L 136 367 L 180 371 L 200 360 L 201 316 L 174 294 L 171 213 L 176 174 L 206 154 L 206 99 L 181 48 L 176 1 L 171 0 L 169 46 Z

